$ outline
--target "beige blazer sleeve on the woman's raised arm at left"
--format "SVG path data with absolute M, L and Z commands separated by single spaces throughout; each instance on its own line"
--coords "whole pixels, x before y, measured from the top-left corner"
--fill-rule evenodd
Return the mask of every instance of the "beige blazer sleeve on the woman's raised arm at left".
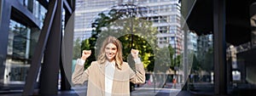
M 84 71 L 84 65 L 75 65 L 72 75 L 73 84 L 84 84 L 88 80 L 91 65 Z

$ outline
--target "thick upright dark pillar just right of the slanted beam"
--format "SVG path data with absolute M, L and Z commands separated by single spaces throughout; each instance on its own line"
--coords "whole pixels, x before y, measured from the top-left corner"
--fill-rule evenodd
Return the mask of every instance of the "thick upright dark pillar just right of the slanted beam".
M 58 80 L 61 59 L 61 17 L 63 0 L 57 0 L 57 8 L 53 25 L 49 33 L 49 40 L 44 53 L 44 63 L 41 71 L 40 94 L 53 95 L 58 93 Z

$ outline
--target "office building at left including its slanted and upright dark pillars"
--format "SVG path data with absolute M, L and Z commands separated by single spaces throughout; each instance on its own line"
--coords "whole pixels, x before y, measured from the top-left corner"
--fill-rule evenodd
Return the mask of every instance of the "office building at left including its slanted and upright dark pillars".
M 23 95 L 32 95 L 39 88 L 42 95 L 55 94 L 59 75 L 63 79 L 60 85 L 66 83 L 65 74 L 59 74 L 62 64 L 55 59 L 61 59 L 61 40 L 73 38 L 73 31 L 64 32 L 73 2 L 0 0 L 1 93 L 22 90 Z M 61 89 L 68 88 L 64 85 Z

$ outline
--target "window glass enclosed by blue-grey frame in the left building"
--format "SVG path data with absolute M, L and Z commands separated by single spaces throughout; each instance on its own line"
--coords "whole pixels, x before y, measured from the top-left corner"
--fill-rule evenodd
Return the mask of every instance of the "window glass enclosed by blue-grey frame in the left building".
M 4 83 L 24 83 L 39 31 L 10 20 Z

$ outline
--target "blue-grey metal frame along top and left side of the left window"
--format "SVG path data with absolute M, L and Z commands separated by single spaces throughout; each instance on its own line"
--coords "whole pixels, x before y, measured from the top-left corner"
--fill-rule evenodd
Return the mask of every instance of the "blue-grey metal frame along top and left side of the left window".
M 39 27 L 40 21 L 23 5 L 16 0 L 1 0 L 1 16 L 0 16 L 0 78 L 3 79 L 5 65 L 4 62 L 7 56 L 7 48 L 9 41 L 9 23 L 10 20 L 18 20 L 23 25 Z M 22 14 L 20 14 L 22 13 Z M 15 14 L 15 15 L 13 15 Z M 22 17 L 22 18 L 21 18 Z M 0 82 L 3 86 L 3 82 Z

